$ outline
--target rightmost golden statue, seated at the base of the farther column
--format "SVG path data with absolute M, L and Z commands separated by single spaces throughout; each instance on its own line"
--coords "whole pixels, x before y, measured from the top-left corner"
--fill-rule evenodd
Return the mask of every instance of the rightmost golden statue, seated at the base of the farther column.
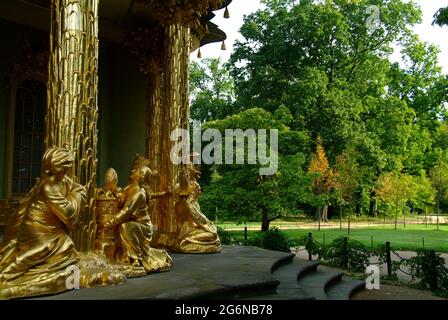
M 182 171 L 182 180 L 175 188 L 180 196 L 176 212 L 182 224 L 178 229 L 178 248 L 182 253 L 215 253 L 221 251 L 221 241 L 215 225 L 201 212 L 198 203 L 201 187 L 197 182 L 200 170 L 191 164 Z

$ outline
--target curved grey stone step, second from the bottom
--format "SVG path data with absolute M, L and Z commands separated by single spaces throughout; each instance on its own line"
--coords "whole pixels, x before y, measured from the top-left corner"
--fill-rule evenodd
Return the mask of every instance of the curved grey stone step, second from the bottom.
M 302 277 L 299 280 L 299 285 L 316 300 L 327 300 L 325 290 L 334 283 L 340 282 L 343 275 L 342 272 L 317 270 Z

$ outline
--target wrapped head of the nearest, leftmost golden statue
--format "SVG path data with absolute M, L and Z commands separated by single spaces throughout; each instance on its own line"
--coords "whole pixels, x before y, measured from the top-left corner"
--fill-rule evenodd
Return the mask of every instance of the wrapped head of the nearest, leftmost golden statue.
M 72 168 L 75 153 L 66 147 L 51 147 L 42 158 L 42 170 L 45 175 L 65 174 Z

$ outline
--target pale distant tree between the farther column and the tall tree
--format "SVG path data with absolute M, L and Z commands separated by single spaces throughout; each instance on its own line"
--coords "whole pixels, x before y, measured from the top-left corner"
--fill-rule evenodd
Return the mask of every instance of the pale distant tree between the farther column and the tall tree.
M 234 84 L 228 66 L 218 59 L 190 64 L 191 118 L 198 121 L 223 119 L 236 111 Z

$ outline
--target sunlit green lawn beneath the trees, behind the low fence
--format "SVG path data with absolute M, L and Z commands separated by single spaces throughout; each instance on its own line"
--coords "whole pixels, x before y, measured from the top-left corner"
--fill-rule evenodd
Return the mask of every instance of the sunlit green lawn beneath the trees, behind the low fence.
M 371 246 L 372 237 L 374 247 L 383 245 L 386 241 L 391 242 L 391 247 L 394 250 L 416 250 L 424 246 L 427 249 L 435 249 L 440 252 L 448 252 L 448 226 L 441 225 L 440 230 L 437 231 L 435 226 L 425 227 L 424 225 L 408 225 L 406 229 L 403 227 L 394 230 L 393 225 L 386 225 L 384 227 L 370 227 L 352 229 L 350 235 L 347 230 L 339 229 L 322 229 L 321 231 L 305 230 L 305 229 L 290 229 L 282 230 L 291 239 L 302 238 L 309 232 L 312 232 L 313 237 L 319 242 L 329 244 L 334 239 L 341 236 L 348 236 L 351 239 L 358 240 L 366 246 Z M 249 237 L 258 231 L 249 231 Z M 242 240 L 244 233 L 241 231 L 231 231 L 232 236 L 236 239 Z M 424 239 L 424 240 L 423 240 Z

